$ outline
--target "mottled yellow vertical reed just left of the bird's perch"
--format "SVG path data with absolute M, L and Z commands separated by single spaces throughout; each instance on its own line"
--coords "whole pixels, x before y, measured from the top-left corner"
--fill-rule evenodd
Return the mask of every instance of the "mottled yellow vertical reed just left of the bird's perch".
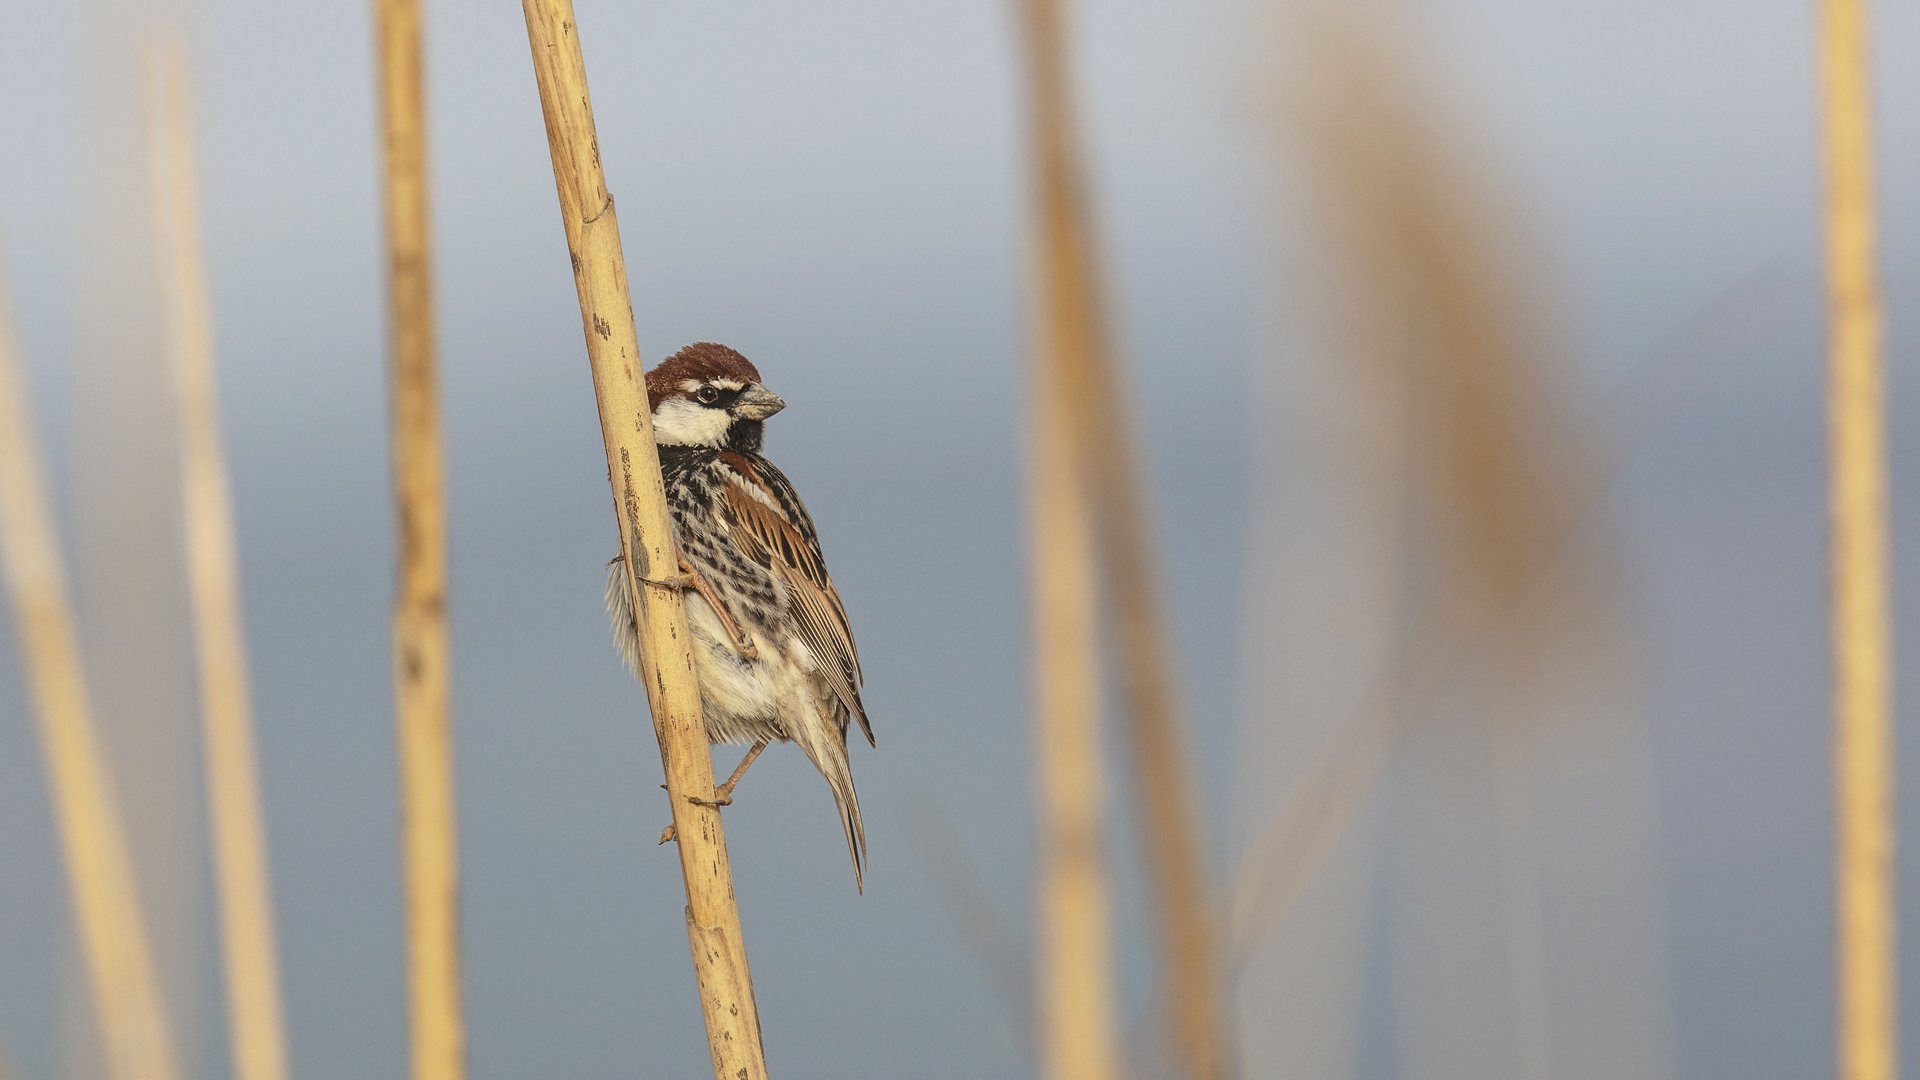
M 419 0 L 374 0 L 394 407 L 394 719 L 407 882 L 413 1080 L 461 1080 L 459 826 L 447 650 L 447 509 L 434 371 L 432 215 Z

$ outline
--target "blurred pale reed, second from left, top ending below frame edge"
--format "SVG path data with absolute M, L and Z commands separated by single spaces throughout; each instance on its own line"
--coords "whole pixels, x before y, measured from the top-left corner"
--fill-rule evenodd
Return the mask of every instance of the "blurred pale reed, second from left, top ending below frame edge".
M 180 423 L 180 498 L 227 1038 L 234 1080 L 284 1080 L 280 963 L 253 751 L 238 546 L 213 375 L 213 313 L 200 250 L 186 56 L 179 40 L 146 48 L 146 113 L 165 356 Z

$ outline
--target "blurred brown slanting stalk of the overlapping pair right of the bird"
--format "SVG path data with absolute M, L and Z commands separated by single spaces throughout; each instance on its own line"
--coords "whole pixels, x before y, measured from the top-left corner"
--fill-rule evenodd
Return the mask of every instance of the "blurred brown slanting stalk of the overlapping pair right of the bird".
M 1035 319 L 1062 369 L 1060 415 L 1073 432 L 1075 482 L 1087 486 L 1106 580 L 1114 592 L 1121 688 L 1127 698 L 1140 828 L 1164 951 L 1164 999 L 1177 1065 L 1192 1080 L 1227 1072 L 1221 1038 L 1213 905 L 1206 844 L 1188 780 L 1185 721 L 1160 600 L 1139 454 L 1125 423 L 1123 377 L 1106 338 L 1100 282 L 1075 154 L 1075 121 L 1058 0 L 1027 0 L 1033 94 Z

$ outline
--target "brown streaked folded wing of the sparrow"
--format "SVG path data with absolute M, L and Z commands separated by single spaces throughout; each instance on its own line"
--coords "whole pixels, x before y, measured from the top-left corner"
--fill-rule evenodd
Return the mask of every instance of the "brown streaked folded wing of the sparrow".
M 860 703 L 860 651 L 852 644 L 847 609 L 841 605 L 839 590 L 833 588 L 833 578 L 828 577 L 828 563 L 820 557 L 820 540 L 806 507 L 801 505 L 801 496 L 764 457 L 749 459 L 728 452 L 720 459 L 732 479 L 722 490 L 720 505 L 733 530 L 733 544 L 787 582 L 795 632 L 814 653 L 828 688 L 847 713 L 860 721 L 860 730 L 872 744 L 874 728 L 866 721 L 866 705 Z

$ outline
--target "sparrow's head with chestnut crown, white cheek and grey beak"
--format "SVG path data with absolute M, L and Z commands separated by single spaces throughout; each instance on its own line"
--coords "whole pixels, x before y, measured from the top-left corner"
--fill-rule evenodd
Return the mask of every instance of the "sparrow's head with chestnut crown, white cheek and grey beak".
M 647 407 L 653 409 L 653 442 L 660 446 L 712 446 L 760 450 L 760 425 L 785 409 L 745 356 L 695 342 L 647 373 Z

